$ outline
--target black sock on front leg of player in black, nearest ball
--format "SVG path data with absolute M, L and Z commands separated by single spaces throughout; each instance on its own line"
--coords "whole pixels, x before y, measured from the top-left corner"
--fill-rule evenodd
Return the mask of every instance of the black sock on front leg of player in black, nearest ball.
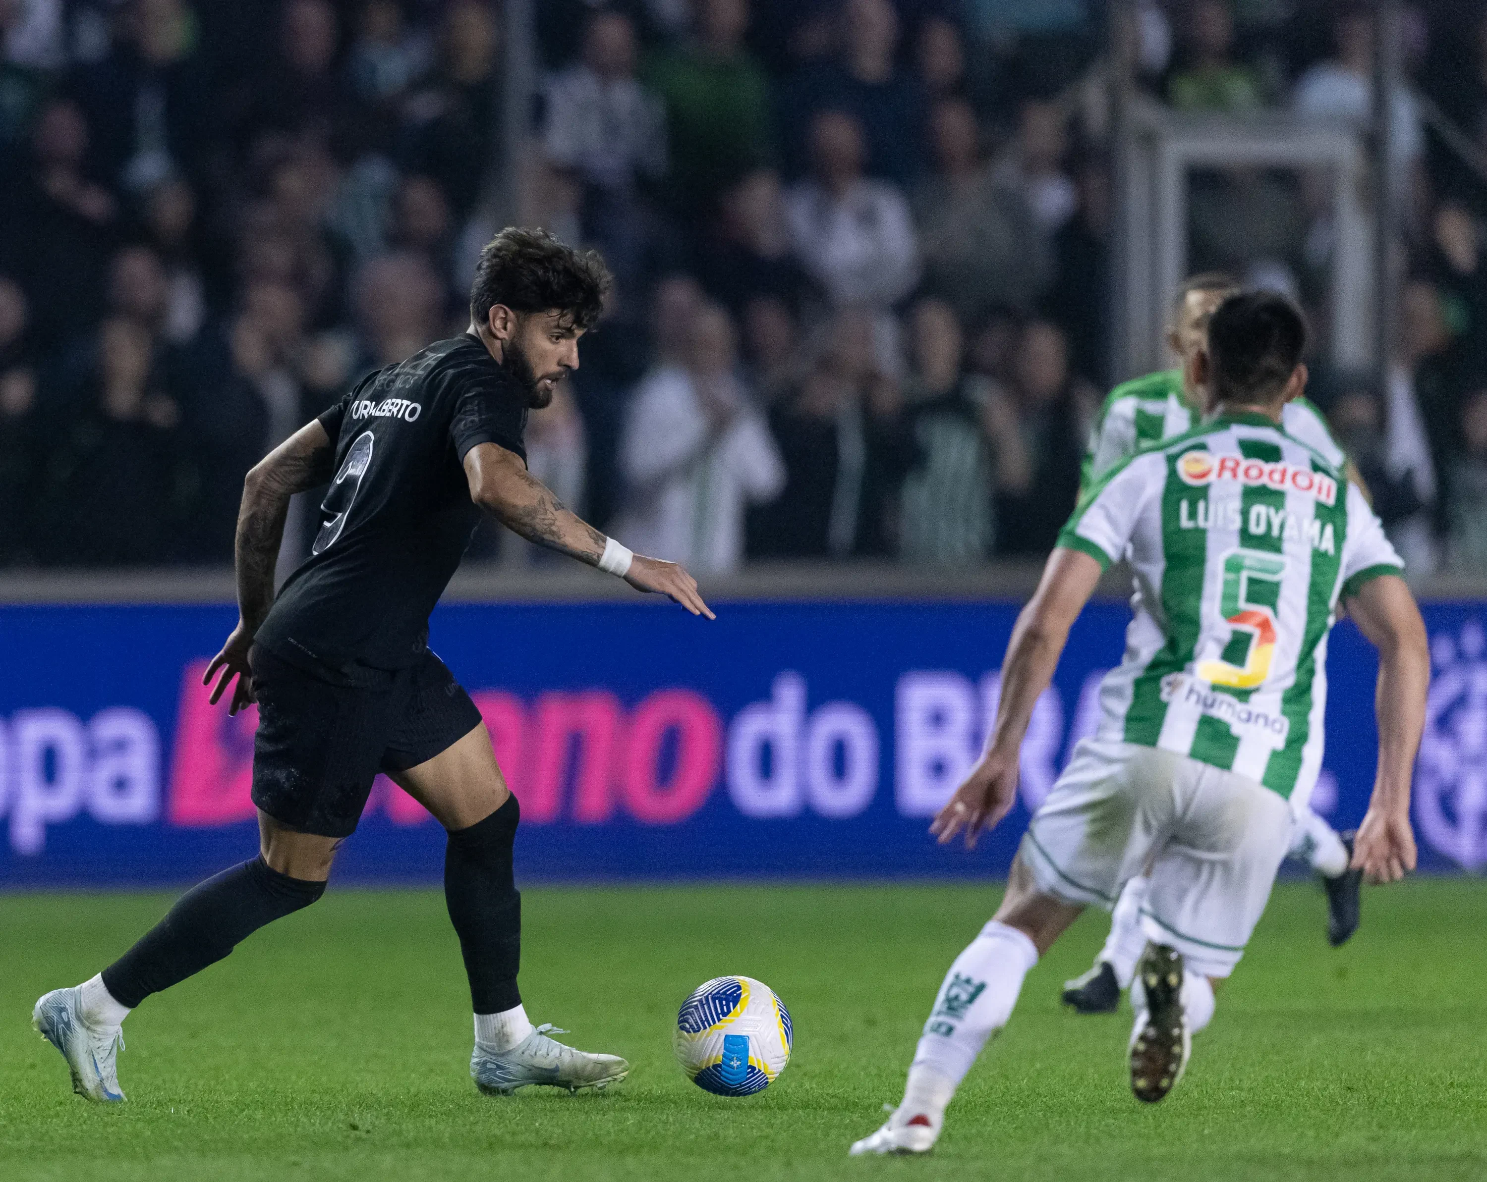
M 522 810 L 516 797 L 467 830 L 454 830 L 445 850 L 445 902 L 459 937 L 477 1014 L 522 1004 L 522 894 L 512 873 L 512 846 Z

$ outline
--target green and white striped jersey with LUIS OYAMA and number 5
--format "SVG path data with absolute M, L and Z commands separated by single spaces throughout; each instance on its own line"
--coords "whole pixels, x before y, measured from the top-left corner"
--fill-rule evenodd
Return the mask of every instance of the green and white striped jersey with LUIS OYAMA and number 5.
M 1358 486 L 1264 415 L 1225 415 L 1111 468 L 1059 544 L 1102 566 L 1129 558 L 1136 575 L 1099 737 L 1306 803 L 1337 602 L 1404 568 Z

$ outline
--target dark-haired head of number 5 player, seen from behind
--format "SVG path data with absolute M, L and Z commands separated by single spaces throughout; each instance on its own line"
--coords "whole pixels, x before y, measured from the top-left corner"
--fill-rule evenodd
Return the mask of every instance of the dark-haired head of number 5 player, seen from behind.
M 1301 361 L 1306 339 L 1306 317 L 1285 296 L 1230 296 L 1209 321 L 1215 395 L 1233 403 L 1273 401 Z

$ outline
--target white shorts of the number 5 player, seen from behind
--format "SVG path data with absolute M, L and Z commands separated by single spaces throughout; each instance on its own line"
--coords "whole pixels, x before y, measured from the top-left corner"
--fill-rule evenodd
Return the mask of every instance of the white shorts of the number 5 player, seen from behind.
M 1187 755 L 1083 740 L 1032 818 L 1022 858 L 1038 888 L 1111 908 L 1149 864 L 1149 940 L 1206 977 L 1234 971 L 1291 844 L 1291 806 Z

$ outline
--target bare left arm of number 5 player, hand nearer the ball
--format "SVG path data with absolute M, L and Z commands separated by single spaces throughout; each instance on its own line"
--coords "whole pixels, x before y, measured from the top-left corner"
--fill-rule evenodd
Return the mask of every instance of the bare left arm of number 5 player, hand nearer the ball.
M 929 825 L 940 844 L 965 833 L 965 844 L 974 846 L 981 830 L 992 828 L 1013 807 L 1017 763 L 1033 703 L 1053 681 L 1069 627 L 1094 593 L 1100 572 L 1100 563 L 1083 550 L 1060 546 L 1048 556 L 1038 590 L 1022 610 L 1007 642 L 1002 694 L 986 754 Z

